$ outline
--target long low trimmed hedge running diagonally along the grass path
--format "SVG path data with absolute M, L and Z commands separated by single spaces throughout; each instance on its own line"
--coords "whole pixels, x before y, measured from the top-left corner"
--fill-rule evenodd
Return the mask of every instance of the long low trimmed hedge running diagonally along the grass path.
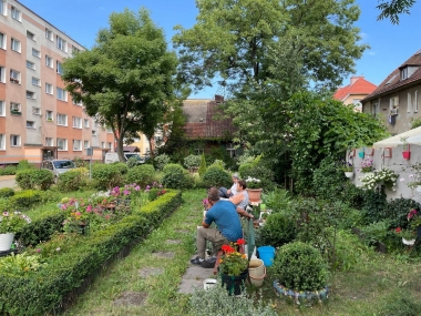
M 0 313 L 16 316 L 55 314 L 66 295 L 101 271 L 122 248 L 146 236 L 181 203 L 181 192 L 167 192 L 141 210 L 134 210 L 121 222 L 82 238 L 66 253 L 58 253 L 38 272 L 23 276 L 0 272 Z

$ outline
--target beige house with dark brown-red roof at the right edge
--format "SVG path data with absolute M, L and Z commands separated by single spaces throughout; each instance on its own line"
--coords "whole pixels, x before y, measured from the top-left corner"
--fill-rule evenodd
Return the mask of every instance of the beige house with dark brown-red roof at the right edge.
M 400 134 L 411 130 L 411 122 L 421 116 L 421 50 L 394 69 L 380 85 L 367 95 L 362 112 L 384 121 L 388 131 Z

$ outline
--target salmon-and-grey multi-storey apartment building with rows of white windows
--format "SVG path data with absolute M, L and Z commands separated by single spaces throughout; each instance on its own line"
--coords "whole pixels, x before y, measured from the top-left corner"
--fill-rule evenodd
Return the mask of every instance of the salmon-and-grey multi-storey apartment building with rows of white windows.
M 62 62 L 84 50 L 16 0 L 0 0 L 0 164 L 44 159 L 102 160 L 114 135 L 72 101 Z

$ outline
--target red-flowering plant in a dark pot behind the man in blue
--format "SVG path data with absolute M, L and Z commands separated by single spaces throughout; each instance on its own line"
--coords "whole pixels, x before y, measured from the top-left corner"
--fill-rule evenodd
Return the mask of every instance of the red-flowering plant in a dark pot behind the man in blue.
M 242 287 L 248 275 L 248 259 L 245 254 L 240 254 L 238 246 L 244 245 L 244 239 L 238 239 L 230 245 L 223 245 L 224 252 L 219 261 L 219 273 L 222 276 L 222 286 L 226 286 L 229 295 L 242 294 Z

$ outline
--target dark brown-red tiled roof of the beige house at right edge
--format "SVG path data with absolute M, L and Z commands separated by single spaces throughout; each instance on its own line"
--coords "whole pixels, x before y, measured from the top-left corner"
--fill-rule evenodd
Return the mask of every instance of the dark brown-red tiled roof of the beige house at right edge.
M 379 84 L 379 86 L 371 92 L 369 95 L 367 95 L 363 101 L 368 101 L 370 99 L 376 98 L 377 95 L 383 94 L 384 92 L 396 90 L 400 86 L 411 84 L 414 82 L 418 82 L 421 80 L 421 53 L 414 53 L 409 60 L 407 60 L 404 63 L 402 63 L 399 68 L 393 70 L 392 73 L 390 73 L 382 83 Z M 420 67 L 412 75 L 407 78 L 405 80 L 400 79 L 400 72 L 401 69 L 405 65 L 413 65 L 413 67 Z

